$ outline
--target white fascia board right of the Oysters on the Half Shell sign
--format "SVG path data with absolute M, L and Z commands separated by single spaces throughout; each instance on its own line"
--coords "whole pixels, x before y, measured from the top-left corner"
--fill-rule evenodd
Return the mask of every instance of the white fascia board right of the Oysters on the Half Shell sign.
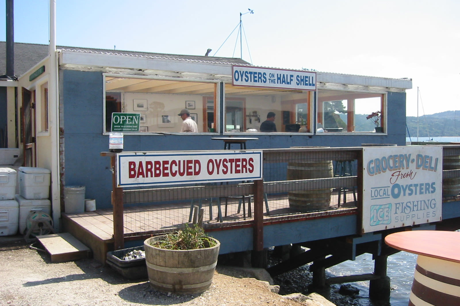
M 344 85 L 363 85 L 369 87 L 411 89 L 412 79 L 388 79 L 351 74 L 316 73 L 316 82 Z

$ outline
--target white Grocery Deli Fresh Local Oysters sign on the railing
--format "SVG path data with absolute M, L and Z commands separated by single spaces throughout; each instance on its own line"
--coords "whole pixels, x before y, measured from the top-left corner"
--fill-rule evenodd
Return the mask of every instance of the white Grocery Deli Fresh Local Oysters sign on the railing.
M 362 181 L 362 232 L 442 219 L 442 147 L 364 148 Z

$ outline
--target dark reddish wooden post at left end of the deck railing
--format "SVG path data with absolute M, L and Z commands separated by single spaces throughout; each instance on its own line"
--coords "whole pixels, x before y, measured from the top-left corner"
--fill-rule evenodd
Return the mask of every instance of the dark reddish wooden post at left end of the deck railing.
M 114 249 L 123 249 L 125 239 L 123 233 L 123 188 L 116 184 L 117 164 L 116 154 L 110 156 L 112 167 L 112 206 L 114 210 Z

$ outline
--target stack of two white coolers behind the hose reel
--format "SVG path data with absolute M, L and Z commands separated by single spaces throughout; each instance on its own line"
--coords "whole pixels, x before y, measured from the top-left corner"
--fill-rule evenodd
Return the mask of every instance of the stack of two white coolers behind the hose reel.
M 30 214 L 41 211 L 51 215 L 51 201 L 48 199 L 51 171 L 35 167 L 19 167 L 18 170 L 19 194 L 15 199 L 19 204 L 19 233 L 23 234 Z

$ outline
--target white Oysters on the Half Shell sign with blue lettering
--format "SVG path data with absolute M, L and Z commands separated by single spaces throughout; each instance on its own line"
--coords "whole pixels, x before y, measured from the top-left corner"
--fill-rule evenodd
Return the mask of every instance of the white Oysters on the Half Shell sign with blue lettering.
M 232 85 L 316 91 L 316 72 L 233 65 Z

